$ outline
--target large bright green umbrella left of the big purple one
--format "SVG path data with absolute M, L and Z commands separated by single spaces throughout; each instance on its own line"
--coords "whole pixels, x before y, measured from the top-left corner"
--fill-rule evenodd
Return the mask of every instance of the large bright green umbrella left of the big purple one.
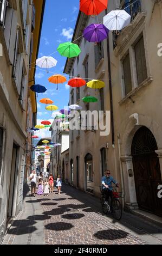
M 81 53 L 79 46 L 73 44 L 72 42 L 64 42 L 63 44 L 60 44 L 57 51 L 61 54 L 61 56 L 67 58 L 77 57 Z

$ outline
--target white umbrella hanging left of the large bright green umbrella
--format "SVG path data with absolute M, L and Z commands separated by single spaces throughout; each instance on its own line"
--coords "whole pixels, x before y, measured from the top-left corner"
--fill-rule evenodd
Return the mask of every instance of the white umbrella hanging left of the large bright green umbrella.
M 39 66 L 40 68 L 47 69 L 47 72 L 48 72 L 48 69 L 53 68 L 54 66 L 56 66 L 56 64 L 57 64 L 57 60 L 54 59 L 53 57 L 43 56 L 36 60 L 36 65 Z

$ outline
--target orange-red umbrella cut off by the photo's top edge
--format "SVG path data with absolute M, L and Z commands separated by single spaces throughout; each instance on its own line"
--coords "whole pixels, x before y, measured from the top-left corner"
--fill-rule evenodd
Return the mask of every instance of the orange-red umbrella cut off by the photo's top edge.
M 108 0 L 80 0 L 80 11 L 86 15 L 99 15 L 107 5 Z

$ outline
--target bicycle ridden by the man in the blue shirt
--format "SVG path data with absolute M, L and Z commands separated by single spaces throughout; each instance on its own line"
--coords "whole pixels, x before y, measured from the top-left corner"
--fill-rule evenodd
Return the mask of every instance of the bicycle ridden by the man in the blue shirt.
M 116 186 L 113 187 L 113 198 L 109 197 L 109 202 L 105 204 L 105 197 L 106 195 L 103 193 L 103 190 L 100 186 L 101 190 L 101 206 L 102 206 L 102 211 L 104 214 L 111 213 L 115 220 L 120 220 L 122 216 L 122 205 L 119 201 L 119 198 L 121 198 L 121 192 L 116 191 Z

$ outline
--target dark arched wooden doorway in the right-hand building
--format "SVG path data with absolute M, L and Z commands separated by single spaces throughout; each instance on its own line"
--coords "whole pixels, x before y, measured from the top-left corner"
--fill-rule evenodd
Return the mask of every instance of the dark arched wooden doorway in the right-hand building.
M 142 126 L 132 141 L 132 161 L 135 190 L 139 209 L 162 216 L 162 202 L 158 198 L 158 184 L 161 184 L 161 172 L 157 142 L 152 132 Z

